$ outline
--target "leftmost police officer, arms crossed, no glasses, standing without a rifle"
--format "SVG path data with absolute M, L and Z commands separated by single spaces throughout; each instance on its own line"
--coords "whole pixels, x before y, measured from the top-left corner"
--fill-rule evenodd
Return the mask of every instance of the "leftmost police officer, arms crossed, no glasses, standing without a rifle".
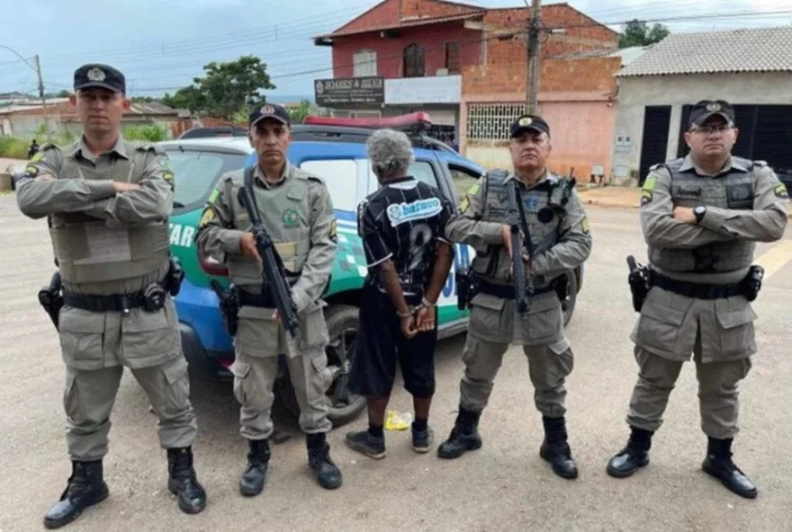
M 171 299 L 181 282 L 168 248 L 173 173 L 162 150 L 121 137 L 130 106 L 121 72 L 79 67 L 74 88 L 83 136 L 63 149 L 41 146 L 17 184 L 22 212 L 48 217 L 63 283 L 63 306 L 50 316 L 67 369 L 72 475 L 44 524 L 61 527 L 107 497 L 102 459 L 124 366 L 159 418 L 168 489 L 182 510 L 197 513 L 206 494 L 193 469 L 197 423 Z

